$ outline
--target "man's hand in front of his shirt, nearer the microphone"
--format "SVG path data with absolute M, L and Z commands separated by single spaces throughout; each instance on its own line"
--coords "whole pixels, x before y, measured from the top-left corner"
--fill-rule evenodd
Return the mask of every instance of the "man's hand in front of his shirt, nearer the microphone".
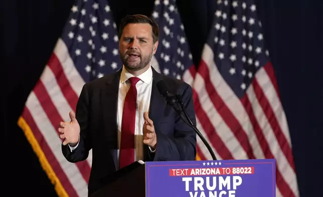
M 148 145 L 151 149 L 156 149 L 157 139 L 153 122 L 148 117 L 148 113 L 143 113 L 144 125 L 142 127 L 143 143 Z

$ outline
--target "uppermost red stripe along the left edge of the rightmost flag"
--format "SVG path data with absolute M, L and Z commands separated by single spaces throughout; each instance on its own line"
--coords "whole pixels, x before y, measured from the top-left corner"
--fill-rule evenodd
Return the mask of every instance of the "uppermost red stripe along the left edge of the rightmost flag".
M 221 99 L 221 96 L 218 94 L 218 92 L 212 85 L 212 82 L 210 80 L 209 68 L 203 60 L 201 60 L 198 72 L 204 78 L 205 88 L 209 94 L 210 100 L 212 101 L 216 110 L 221 115 L 223 121 L 228 125 L 232 133 L 236 136 L 236 139 L 240 142 L 242 148 L 248 155 L 248 158 L 255 159 L 246 132 L 243 130 L 239 121 L 232 114 L 230 109 L 226 106 L 226 104 Z

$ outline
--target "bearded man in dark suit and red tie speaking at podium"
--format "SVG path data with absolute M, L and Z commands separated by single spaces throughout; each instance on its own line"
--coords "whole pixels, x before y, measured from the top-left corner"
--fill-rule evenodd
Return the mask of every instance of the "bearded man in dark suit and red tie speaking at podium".
M 76 116 L 61 122 L 62 152 L 69 162 L 87 159 L 92 149 L 89 194 L 103 186 L 102 178 L 134 161 L 194 160 L 196 133 L 166 104 L 156 83 L 164 80 L 180 93 L 196 124 L 192 88 L 156 72 L 150 59 L 158 46 L 158 26 L 143 15 L 125 17 L 119 30 L 123 67 L 86 83 Z M 174 65 L 175 66 L 175 65 Z

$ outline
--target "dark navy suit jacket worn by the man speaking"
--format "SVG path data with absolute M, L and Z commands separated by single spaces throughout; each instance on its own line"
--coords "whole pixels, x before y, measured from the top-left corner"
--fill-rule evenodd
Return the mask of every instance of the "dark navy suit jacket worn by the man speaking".
M 81 128 L 79 145 L 73 152 L 68 145 L 62 145 L 63 155 L 69 162 L 87 159 L 89 150 L 92 149 L 89 194 L 101 188 L 104 185 L 102 179 L 117 169 L 116 114 L 120 74 L 121 69 L 83 86 L 76 107 L 76 119 Z M 180 119 L 172 107 L 166 104 L 156 83 L 164 80 L 172 92 L 182 95 L 187 113 L 196 125 L 192 87 L 182 80 L 159 74 L 153 68 L 152 77 L 149 118 L 154 123 L 157 146 L 156 151 L 151 153 L 148 146 L 144 145 L 143 160 L 195 160 L 195 131 Z

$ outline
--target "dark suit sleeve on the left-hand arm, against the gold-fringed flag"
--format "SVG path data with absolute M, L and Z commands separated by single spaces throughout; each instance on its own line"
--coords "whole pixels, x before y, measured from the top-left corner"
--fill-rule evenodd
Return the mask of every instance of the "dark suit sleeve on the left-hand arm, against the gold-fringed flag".
M 76 105 L 75 117 L 80 125 L 80 138 L 77 147 L 72 151 L 71 148 L 62 144 L 62 152 L 69 162 L 78 162 L 87 159 L 92 148 L 92 140 L 89 133 L 89 95 L 86 84 L 83 85 L 79 100 Z

